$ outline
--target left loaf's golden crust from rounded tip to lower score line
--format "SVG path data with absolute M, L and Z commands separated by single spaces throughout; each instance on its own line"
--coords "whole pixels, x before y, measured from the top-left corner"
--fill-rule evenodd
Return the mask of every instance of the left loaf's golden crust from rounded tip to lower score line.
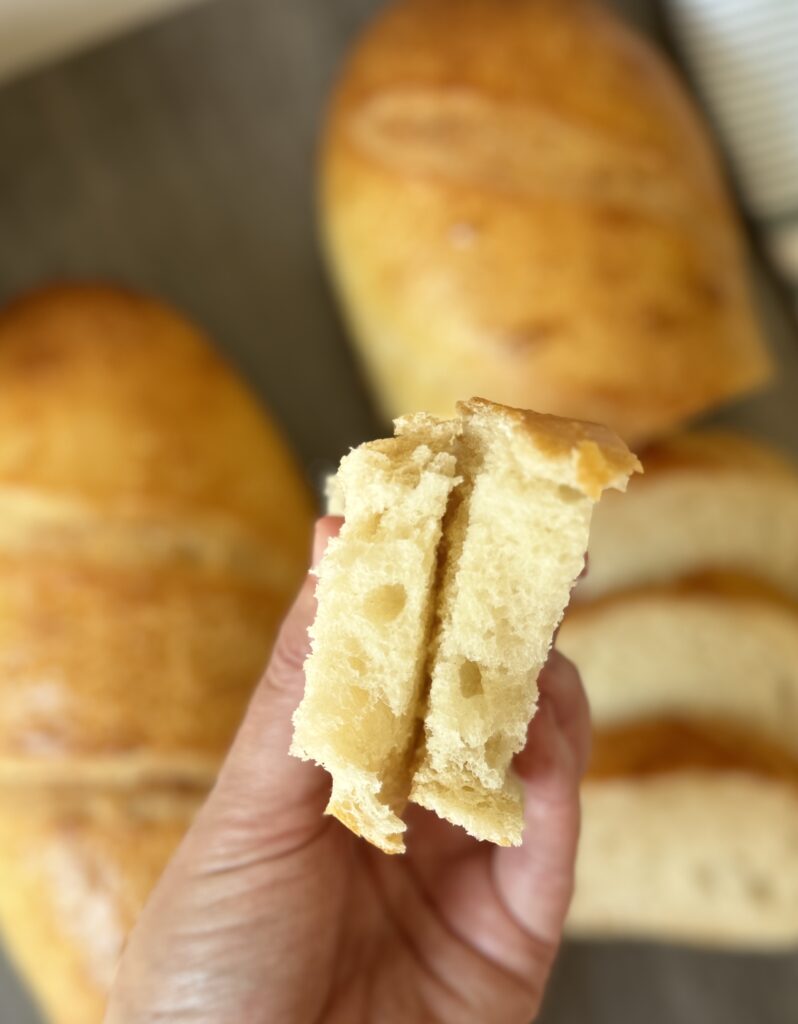
M 252 396 L 160 303 L 31 294 L 0 313 L 0 782 L 207 782 L 309 532 Z

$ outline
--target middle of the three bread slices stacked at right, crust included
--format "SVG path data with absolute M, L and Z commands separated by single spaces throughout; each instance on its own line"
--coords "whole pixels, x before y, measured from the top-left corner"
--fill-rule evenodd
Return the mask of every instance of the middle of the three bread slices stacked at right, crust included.
M 756 583 L 716 577 L 572 605 L 558 647 L 599 729 L 722 719 L 798 752 L 798 603 Z

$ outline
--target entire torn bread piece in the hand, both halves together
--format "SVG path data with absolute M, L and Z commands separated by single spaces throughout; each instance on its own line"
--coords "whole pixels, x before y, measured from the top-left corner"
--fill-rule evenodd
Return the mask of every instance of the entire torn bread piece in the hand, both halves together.
M 404 850 L 408 797 L 517 844 L 510 771 L 584 560 L 593 503 L 637 465 L 603 428 L 472 399 L 355 449 L 345 521 L 319 568 L 297 756 L 333 776 L 328 812 Z

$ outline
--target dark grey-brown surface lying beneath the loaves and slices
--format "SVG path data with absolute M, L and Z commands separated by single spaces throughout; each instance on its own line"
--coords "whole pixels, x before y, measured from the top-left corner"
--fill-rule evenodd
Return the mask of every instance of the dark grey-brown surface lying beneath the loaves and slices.
M 325 284 L 312 207 L 324 98 L 378 6 L 216 0 L 6 85 L 0 300 L 76 276 L 171 300 L 247 375 L 311 478 L 379 431 Z M 661 29 L 647 0 L 620 6 Z M 798 340 L 756 274 L 781 380 L 714 419 L 798 454 Z M 541 1020 L 796 1024 L 798 957 L 569 944 Z M 35 1021 L 0 964 L 0 1022 Z

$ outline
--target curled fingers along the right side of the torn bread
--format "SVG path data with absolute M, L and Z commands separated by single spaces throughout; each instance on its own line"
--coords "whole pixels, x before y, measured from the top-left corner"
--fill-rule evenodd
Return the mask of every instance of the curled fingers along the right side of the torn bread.
M 579 674 L 566 658 L 550 658 L 539 685 L 538 712 L 515 763 L 523 787 L 523 844 L 494 852 L 494 878 L 508 911 L 537 942 L 542 987 L 573 892 L 590 722 Z

